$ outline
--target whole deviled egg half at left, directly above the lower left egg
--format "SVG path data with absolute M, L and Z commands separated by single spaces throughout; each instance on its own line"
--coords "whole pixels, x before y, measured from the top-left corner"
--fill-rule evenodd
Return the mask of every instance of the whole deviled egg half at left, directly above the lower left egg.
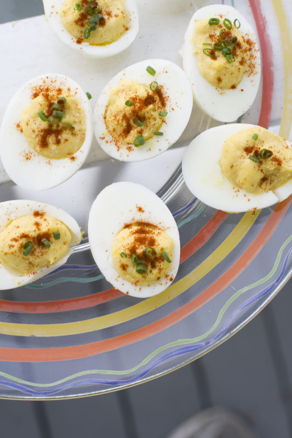
M 45 190 L 81 168 L 92 137 L 88 96 L 73 79 L 46 74 L 11 99 L 0 128 L 0 157 L 14 183 Z

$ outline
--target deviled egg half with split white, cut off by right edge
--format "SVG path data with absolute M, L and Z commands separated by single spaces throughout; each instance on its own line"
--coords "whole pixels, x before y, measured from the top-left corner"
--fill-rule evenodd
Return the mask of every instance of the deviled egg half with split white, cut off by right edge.
M 292 194 L 292 142 L 251 124 L 226 124 L 198 135 L 182 161 L 189 190 L 226 212 L 269 207 Z

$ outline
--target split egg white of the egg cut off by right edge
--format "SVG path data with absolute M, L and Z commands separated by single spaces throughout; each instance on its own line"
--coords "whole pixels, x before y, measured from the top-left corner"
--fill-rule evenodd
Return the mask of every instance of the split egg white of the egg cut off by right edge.
M 183 155 L 183 178 L 189 190 L 205 204 L 226 212 L 245 212 L 269 207 L 292 194 L 292 181 L 273 191 L 253 194 L 234 187 L 220 166 L 222 148 L 226 138 L 248 128 L 250 124 L 226 124 L 204 131 L 188 146 Z M 286 141 L 292 149 L 292 142 Z

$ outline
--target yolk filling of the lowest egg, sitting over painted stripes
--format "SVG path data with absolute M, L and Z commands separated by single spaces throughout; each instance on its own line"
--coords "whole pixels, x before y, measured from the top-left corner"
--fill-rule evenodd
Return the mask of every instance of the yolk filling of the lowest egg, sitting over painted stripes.
M 150 286 L 167 278 L 173 255 L 172 238 L 148 223 L 125 226 L 113 242 L 113 264 L 117 273 L 136 285 Z

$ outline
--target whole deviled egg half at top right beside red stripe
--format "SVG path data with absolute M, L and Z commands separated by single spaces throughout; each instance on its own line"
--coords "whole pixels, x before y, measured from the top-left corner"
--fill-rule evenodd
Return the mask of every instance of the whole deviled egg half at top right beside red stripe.
M 260 85 L 260 49 L 251 25 L 231 6 L 198 9 L 186 29 L 183 70 L 197 106 L 232 122 L 252 105 Z

